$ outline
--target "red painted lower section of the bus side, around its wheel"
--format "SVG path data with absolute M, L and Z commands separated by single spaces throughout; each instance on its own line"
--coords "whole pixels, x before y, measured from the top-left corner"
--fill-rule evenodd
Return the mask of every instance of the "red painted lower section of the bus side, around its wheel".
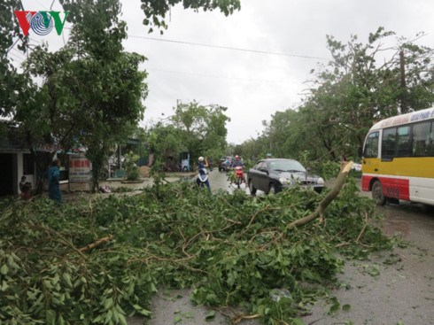
M 374 176 L 361 177 L 361 190 L 368 191 L 369 183 Z M 395 197 L 401 200 L 410 200 L 410 180 L 392 177 L 376 177 L 383 186 L 383 194 L 385 197 Z

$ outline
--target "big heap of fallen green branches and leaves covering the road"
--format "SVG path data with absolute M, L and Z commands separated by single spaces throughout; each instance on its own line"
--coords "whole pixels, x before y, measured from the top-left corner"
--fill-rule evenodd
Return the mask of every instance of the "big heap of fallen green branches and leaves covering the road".
M 267 324 L 302 323 L 342 270 L 339 256 L 391 247 L 356 191 L 347 183 L 323 221 L 291 229 L 322 196 L 210 195 L 182 183 L 66 205 L 2 202 L 0 323 L 127 324 L 151 314 L 159 286 L 192 287 L 198 304 L 241 307 Z

